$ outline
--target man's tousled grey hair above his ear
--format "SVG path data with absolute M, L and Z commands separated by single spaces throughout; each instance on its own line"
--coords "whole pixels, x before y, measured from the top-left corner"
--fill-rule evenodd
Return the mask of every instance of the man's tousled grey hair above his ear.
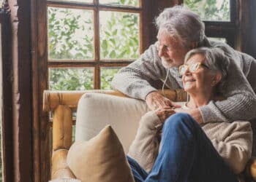
M 155 18 L 157 28 L 166 29 L 170 35 L 176 35 L 185 47 L 192 43 L 202 44 L 205 39 L 205 25 L 199 15 L 181 6 L 164 9 Z

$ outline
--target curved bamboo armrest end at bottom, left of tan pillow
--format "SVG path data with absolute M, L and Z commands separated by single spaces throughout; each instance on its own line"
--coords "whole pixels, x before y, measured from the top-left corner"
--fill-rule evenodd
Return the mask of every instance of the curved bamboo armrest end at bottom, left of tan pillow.
M 75 175 L 67 165 L 67 149 L 53 151 L 51 178 L 75 178 Z

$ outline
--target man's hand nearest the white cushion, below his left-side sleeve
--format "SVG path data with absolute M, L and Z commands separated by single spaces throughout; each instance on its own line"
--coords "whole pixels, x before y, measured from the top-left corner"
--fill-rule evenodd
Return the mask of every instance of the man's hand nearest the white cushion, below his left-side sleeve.
M 146 96 L 146 103 L 151 110 L 156 110 L 157 108 L 173 108 L 173 107 L 180 108 L 181 107 L 175 102 L 165 98 L 157 91 L 150 92 Z

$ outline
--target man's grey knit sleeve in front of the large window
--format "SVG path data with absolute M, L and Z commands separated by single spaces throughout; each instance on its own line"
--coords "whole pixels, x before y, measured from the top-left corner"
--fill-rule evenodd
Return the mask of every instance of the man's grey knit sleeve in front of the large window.
M 152 85 L 164 79 L 167 71 L 161 65 L 155 44 L 146 50 L 135 62 L 121 68 L 112 81 L 113 89 L 132 98 L 145 100 L 149 92 L 157 91 Z

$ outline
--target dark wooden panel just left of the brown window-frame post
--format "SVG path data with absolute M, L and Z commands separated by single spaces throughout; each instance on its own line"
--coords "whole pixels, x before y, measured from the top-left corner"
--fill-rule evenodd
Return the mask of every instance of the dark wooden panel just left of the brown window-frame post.
M 8 1 L 12 37 L 13 181 L 32 180 L 30 1 Z M 11 92 L 11 90 L 10 90 Z

